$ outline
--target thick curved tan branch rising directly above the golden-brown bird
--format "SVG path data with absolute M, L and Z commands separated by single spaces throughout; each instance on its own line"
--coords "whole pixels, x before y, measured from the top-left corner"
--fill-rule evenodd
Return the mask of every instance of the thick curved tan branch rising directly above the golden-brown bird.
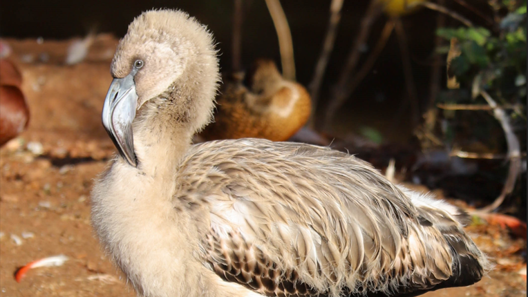
M 283 77 L 287 80 L 295 80 L 295 61 L 293 57 L 293 41 L 290 26 L 279 0 L 266 0 L 267 9 L 273 19 L 273 24 L 279 37 L 279 49 L 281 50 L 281 63 Z

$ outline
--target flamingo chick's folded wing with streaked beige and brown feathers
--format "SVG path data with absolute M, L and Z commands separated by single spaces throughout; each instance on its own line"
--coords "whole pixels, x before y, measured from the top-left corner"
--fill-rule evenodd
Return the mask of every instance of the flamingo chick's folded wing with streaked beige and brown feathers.
M 390 291 L 422 267 L 435 280 L 426 251 L 409 252 L 410 198 L 353 156 L 245 139 L 200 144 L 182 164 L 192 190 L 175 201 L 207 209 L 202 257 L 225 280 L 268 296 Z

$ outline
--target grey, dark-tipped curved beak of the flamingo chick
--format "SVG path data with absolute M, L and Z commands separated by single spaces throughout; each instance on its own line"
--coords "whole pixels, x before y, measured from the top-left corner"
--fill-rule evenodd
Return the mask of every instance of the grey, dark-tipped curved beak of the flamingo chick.
M 135 93 L 134 75 L 135 72 L 113 79 L 104 99 L 102 120 L 120 155 L 136 167 L 138 161 L 134 153 L 132 122 L 138 105 L 138 94 Z

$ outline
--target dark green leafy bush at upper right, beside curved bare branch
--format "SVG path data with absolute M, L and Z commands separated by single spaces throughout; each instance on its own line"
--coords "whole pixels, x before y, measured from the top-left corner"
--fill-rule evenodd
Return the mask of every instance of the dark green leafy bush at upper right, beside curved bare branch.
M 460 88 L 442 90 L 437 102 L 487 105 L 480 96 L 481 90 L 485 90 L 500 106 L 515 106 L 505 111 L 511 126 L 519 132 L 521 150 L 525 151 L 522 140 L 526 131 L 527 104 L 527 1 L 490 0 L 488 3 L 500 17 L 495 18 L 496 23 L 489 28 L 437 29 L 437 36 L 458 41 L 456 48 L 443 46 L 436 52 L 455 56 L 450 61 L 449 75 L 454 75 L 460 84 Z M 472 151 L 478 144 L 482 151 L 505 150 L 504 132 L 492 111 L 442 110 L 438 123 L 437 132 L 447 146 L 466 147 Z

